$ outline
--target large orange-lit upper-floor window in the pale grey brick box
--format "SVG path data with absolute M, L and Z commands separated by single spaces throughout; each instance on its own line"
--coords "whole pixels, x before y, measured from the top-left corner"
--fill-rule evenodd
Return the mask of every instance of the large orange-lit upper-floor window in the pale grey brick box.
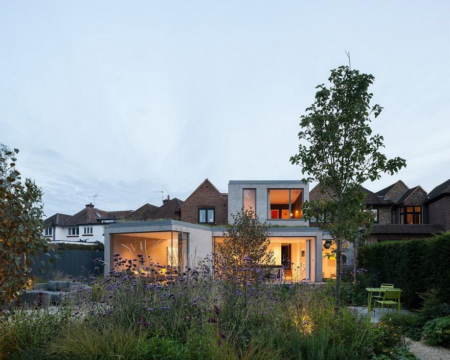
M 267 191 L 269 219 L 302 219 L 302 189 L 269 189 Z

